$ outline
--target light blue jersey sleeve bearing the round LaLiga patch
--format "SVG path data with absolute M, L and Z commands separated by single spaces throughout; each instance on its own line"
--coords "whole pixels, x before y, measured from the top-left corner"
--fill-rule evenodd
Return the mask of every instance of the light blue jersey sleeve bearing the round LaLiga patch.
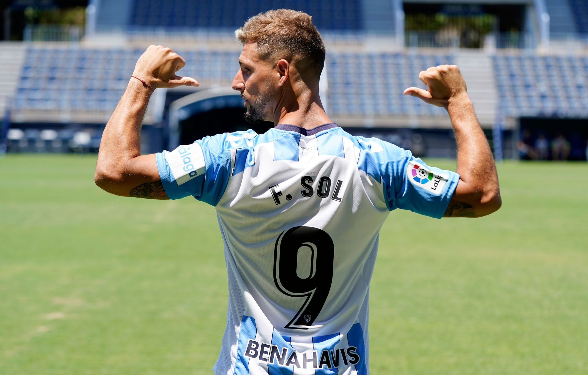
M 459 182 L 459 174 L 426 165 L 408 150 L 371 139 L 371 148 L 380 169 L 384 196 L 389 210 L 411 210 L 430 217 L 443 217 Z

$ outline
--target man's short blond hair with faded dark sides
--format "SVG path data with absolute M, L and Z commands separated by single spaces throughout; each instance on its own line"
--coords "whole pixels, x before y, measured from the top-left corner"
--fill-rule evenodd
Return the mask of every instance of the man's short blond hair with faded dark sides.
M 235 36 L 242 44 L 257 43 L 262 59 L 296 59 L 299 70 L 320 77 L 325 66 L 325 43 L 305 12 L 277 9 L 252 16 Z

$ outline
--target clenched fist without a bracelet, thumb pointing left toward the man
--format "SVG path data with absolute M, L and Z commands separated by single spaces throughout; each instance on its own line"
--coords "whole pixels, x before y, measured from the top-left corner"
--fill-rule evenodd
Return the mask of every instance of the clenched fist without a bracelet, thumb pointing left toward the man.
M 405 95 L 416 96 L 426 103 L 447 108 L 450 98 L 467 96 L 466 81 L 457 65 L 433 66 L 419 73 L 419 79 L 427 85 L 427 89 L 409 87 Z

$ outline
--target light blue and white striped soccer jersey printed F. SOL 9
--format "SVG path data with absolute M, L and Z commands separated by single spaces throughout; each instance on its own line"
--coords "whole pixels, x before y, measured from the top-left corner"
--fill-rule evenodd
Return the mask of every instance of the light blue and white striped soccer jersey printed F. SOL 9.
M 206 137 L 157 154 L 171 199 L 216 207 L 229 278 L 217 375 L 366 375 L 389 212 L 440 218 L 459 175 L 334 123 Z

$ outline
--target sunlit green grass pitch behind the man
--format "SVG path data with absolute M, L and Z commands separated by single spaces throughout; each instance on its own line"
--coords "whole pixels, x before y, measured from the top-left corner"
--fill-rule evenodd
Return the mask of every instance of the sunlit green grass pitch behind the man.
M 94 165 L 0 159 L 0 374 L 212 374 L 227 299 L 213 207 L 109 195 Z M 499 178 L 488 217 L 390 214 L 373 374 L 588 373 L 588 165 L 505 162 Z

